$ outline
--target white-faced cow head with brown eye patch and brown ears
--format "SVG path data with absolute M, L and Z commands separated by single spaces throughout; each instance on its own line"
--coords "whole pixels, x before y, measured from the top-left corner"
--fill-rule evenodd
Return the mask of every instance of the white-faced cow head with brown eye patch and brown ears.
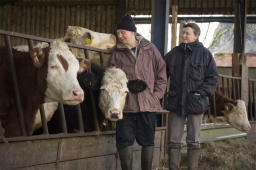
M 32 49 L 30 56 L 37 68 L 38 85 L 45 102 L 75 105 L 83 101 L 83 90 L 76 77 L 89 69 L 89 60 L 78 61 L 61 40 L 54 40 L 44 49 Z

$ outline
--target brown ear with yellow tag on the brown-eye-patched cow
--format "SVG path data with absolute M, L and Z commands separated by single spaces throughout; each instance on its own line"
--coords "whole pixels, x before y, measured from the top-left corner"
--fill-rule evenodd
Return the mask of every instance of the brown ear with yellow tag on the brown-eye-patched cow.
M 34 66 L 40 68 L 45 62 L 45 51 L 38 47 L 33 48 L 30 50 L 30 57 L 32 58 Z

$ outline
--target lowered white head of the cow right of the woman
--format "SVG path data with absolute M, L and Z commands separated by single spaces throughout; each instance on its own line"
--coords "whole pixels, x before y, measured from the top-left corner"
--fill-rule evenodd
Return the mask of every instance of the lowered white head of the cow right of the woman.
M 224 113 L 224 117 L 229 124 L 242 132 L 247 132 L 250 130 L 250 123 L 247 118 L 247 110 L 244 101 L 237 100 L 236 105 L 226 103 L 224 107 L 225 110 L 222 112 Z

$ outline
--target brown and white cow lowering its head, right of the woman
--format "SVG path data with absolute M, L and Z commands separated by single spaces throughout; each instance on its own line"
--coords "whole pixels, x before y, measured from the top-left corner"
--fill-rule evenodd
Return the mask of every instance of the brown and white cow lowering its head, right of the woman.
M 230 99 L 218 91 L 215 91 L 214 95 L 217 117 L 222 117 L 224 121 L 228 122 L 237 130 L 242 132 L 249 131 L 250 122 L 248 121 L 245 102 Z M 210 103 L 213 106 L 213 101 L 210 101 Z M 211 113 L 213 113 L 213 107 L 211 107 Z

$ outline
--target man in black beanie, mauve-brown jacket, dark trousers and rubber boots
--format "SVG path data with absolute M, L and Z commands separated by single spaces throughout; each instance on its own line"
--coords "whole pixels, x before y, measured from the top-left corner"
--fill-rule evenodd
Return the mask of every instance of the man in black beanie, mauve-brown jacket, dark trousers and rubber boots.
M 123 119 L 117 121 L 116 146 L 122 170 L 132 169 L 133 144 L 141 148 L 141 169 L 152 169 L 156 112 L 167 85 L 166 65 L 156 48 L 140 34 L 130 14 L 117 24 L 119 42 L 112 52 L 107 67 L 121 68 L 129 80 L 141 79 L 148 88 L 138 94 L 127 93 Z

